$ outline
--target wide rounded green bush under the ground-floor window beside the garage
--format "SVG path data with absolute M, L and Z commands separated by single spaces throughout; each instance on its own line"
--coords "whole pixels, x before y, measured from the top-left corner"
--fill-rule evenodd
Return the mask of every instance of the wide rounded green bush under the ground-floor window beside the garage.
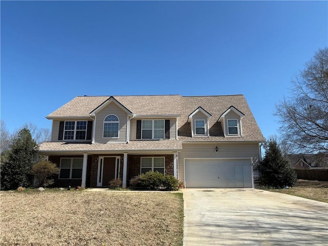
M 137 190 L 178 190 L 179 182 L 173 175 L 163 175 L 159 172 L 147 172 L 133 177 L 130 187 Z

